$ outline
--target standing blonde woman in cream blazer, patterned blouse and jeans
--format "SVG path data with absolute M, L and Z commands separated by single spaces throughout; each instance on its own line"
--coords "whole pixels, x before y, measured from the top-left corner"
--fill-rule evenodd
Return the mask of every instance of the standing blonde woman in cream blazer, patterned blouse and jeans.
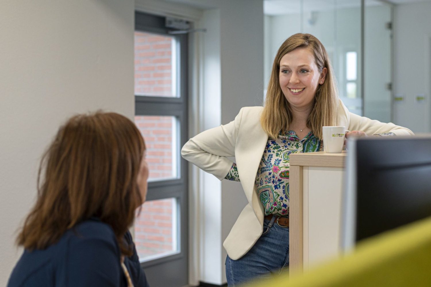
M 182 148 L 183 158 L 219 180 L 240 181 L 247 197 L 223 244 L 228 286 L 287 270 L 289 155 L 321 151 L 322 126 L 345 126 L 347 138 L 412 134 L 350 113 L 338 98 L 325 47 L 298 33 L 278 49 L 264 107 L 244 107 L 234 121 L 201 132 Z

